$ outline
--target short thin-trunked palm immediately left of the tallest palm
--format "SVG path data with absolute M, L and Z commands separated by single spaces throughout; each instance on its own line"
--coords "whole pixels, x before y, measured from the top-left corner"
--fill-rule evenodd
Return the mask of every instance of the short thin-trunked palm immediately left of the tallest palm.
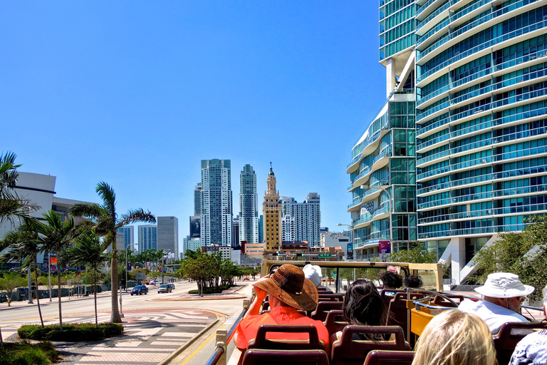
M 100 238 L 93 231 L 80 235 L 75 240 L 75 246 L 66 250 L 66 261 L 76 266 L 90 265 L 93 269 L 93 299 L 95 301 L 95 327 L 98 327 L 97 319 L 97 271 L 100 264 L 106 259 L 103 253 L 105 247 L 101 244 Z

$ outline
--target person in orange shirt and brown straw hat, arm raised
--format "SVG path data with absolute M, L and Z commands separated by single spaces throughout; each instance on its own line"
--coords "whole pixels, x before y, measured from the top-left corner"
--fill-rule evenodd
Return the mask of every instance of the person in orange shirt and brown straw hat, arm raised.
M 316 309 L 319 298 L 316 287 L 304 277 L 301 269 L 291 264 L 284 264 L 271 274 L 271 277 L 264 277 L 256 282 L 254 290 L 256 297 L 236 329 L 238 349 L 247 349 L 249 341 L 256 337 L 256 331 L 261 324 L 311 324 L 316 327 L 319 340 L 325 344 L 325 349 L 328 349 L 328 331 L 323 322 L 297 312 L 298 309 L 313 311 Z M 271 312 L 256 315 L 266 294 L 269 297 Z M 281 339 L 287 340 L 307 339 L 302 334 L 285 332 L 282 335 Z

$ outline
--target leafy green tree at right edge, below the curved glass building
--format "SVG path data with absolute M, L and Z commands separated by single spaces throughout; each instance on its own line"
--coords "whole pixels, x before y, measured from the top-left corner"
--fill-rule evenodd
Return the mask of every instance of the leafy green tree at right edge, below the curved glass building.
M 522 232 L 501 233 L 498 240 L 476 252 L 474 279 L 484 282 L 493 272 L 512 272 L 536 288 L 530 296 L 535 300 L 547 284 L 547 215 L 532 215 L 524 222 Z

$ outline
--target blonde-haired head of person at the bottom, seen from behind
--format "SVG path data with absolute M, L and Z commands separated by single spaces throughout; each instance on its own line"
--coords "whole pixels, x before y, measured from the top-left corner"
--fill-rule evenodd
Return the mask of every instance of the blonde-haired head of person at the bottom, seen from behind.
M 450 309 L 437 314 L 418 339 L 412 365 L 494 365 L 496 349 L 486 323 Z

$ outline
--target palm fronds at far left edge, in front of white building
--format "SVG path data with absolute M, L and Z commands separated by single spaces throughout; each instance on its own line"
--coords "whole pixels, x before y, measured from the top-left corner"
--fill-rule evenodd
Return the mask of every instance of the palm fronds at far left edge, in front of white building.
M 28 213 L 38 210 L 37 205 L 19 198 L 14 191 L 19 177 L 17 168 L 21 166 L 15 164 L 15 158 L 11 152 L 0 155 L 0 223 L 7 220 L 14 224 L 14 218 L 29 217 Z

